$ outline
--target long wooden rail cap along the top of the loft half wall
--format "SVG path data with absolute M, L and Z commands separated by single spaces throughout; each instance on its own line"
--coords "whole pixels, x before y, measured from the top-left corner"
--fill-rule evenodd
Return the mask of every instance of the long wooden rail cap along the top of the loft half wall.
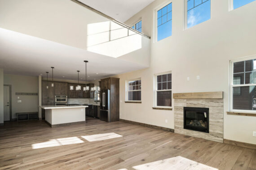
M 143 33 L 139 32 L 139 31 L 133 29 L 132 27 L 125 25 L 124 23 L 115 20 L 114 18 L 112 18 L 112 17 L 106 15 L 105 13 L 102 13 L 102 12 L 98 11 L 97 9 L 94 9 L 94 8 L 88 6 L 87 4 L 82 3 L 82 2 L 79 1 L 79 0 L 71 0 L 71 1 L 73 1 L 73 2 L 75 2 L 75 3 L 77 3 L 77 4 L 79 4 L 79 5 L 81 5 L 81 6 L 85 7 L 85 8 L 87 8 L 87 9 L 89 9 L 89 10 L 91 10 L 91 11 L 93 11 L 93 12 L 95 12 L 95 13 L 97 13 L 97 14 L 103 16 L 103 17 L 106 17 L 106 18 L 110 19 L 111 21 L 115 22 L 116 24 L 118 24 L 118 25 L 120 25 L 120 26 L 123 26 L 124 28 L 127 28 L 128 30 L 132 30 L 132 31 L 136 32 L 137 34 L 140 34 L 140 35 L 142 35 L 142 36 L 144 36 L 144 37 L 150 39 L 150 37 L 147 36 L 146 34 L 143 34 Z

